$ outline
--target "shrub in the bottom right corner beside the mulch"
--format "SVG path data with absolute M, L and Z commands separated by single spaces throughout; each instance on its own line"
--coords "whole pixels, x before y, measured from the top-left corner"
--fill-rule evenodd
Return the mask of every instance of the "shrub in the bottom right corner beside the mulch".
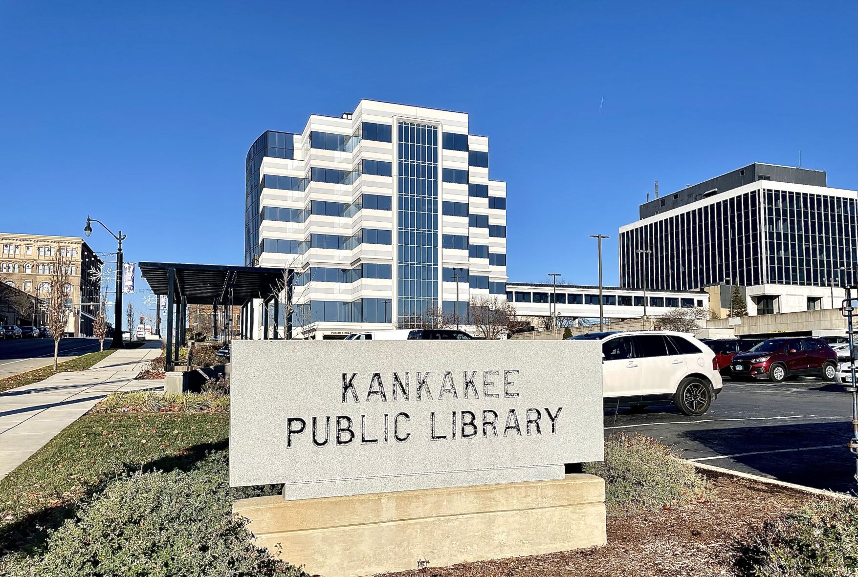
M 835 577 L 858 574 L 858 502 L 812 502 L 766 522 L 740 544 L 740 574 L 752 577 Z

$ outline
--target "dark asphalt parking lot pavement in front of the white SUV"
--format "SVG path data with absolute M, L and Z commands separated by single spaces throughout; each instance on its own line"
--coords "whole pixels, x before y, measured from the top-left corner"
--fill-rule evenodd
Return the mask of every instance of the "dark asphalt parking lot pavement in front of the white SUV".
M 852 397 L 819 379 L 724 381 L 704 416 L 686 417 L 673 406 L 643 412 L 605 410 L 605 435 L 625 431 L 656 437 L 699 460 L 740 472 L 818 489 L 855 492 Z

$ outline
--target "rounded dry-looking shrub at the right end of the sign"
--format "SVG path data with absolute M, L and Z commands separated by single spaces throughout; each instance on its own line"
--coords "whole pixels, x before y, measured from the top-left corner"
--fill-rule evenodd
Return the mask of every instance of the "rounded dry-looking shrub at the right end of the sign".
M 706 479 L 674 448 L 640 434 L 612 435 L 605 460 L 584 471 L 605 479 L 607 514 L 619 517 L 686 505 L 704 496 Z

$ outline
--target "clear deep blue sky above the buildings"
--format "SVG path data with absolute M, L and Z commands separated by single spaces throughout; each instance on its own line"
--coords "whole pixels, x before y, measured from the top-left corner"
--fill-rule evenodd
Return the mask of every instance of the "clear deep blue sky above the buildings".
M 618 281 L 617 229 L 753 161 L 856 188 L 855 2 L 3 2 L 0 229 L 242 263 L 245 153 L 362 98 L 470 114 L 509 274 Z M 603 104 L 602 104 L 603 102 Z M 97 250 L 112 239 L 94 232 Z

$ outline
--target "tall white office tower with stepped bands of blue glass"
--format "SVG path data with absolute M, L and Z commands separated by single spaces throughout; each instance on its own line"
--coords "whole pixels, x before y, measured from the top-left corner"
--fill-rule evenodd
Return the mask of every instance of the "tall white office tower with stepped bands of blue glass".
M 338 338 L 504 298 L 506 184 L 488 160 L 468 114 L 372 100 L 261 135 L 246 163 L 245 264 L 295 270 L 281 327 L 292 310 L 293 336 Z M 258 307 L 254 318 L 258 331 Z

